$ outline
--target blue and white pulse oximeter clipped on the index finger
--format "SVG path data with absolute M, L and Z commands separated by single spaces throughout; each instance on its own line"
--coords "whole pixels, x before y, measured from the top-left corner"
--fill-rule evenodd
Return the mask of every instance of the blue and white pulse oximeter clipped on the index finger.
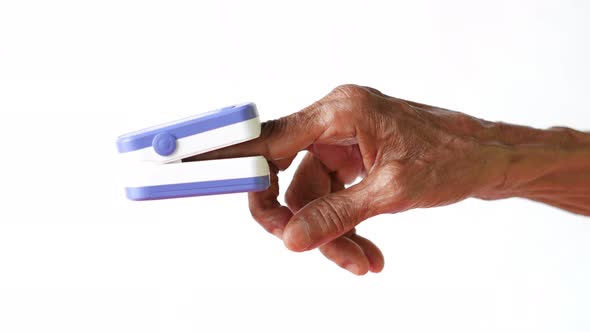
M 131 200 L 154 200 L 266 190 L 262 156 L 182 162 L 182 159 L 260 136 L 254 103 L 239 104 L 120 136 L 117 150 L 133 164 L 125 176 Z

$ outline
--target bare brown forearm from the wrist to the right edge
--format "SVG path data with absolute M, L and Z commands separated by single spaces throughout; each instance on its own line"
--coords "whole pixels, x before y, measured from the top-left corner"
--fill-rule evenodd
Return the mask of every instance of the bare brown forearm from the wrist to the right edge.
M 499 156 L 491 185 L 476 197 L 523 197 L 590 216 L 590 134 L 486 123 L 475 136 Z

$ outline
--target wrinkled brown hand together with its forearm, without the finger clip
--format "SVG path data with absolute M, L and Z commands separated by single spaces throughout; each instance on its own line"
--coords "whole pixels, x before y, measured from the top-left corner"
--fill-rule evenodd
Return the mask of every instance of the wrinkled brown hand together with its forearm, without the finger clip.
M 278 173 L 304 150 L 283 206 Z M 379 248 L 355 231 L 378 214 L 524 197 L 590 216 L 588 133 L 484 121 L 368 87 L 340 86 L 264 123 L 256 140 L 190 160 L 252 155 L 271 168 L 271 187 L 248 194 L 254 219 L 287 248 L 319 248 L 357 275 L 383 269 Z

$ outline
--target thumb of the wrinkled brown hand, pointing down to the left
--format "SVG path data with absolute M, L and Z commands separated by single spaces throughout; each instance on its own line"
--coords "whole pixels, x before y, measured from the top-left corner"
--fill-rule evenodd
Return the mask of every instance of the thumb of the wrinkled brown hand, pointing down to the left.
M 375 204 L 379 195 L 371 182 L 367 177 L 354 186 L 308 203 L 285 226 L 285 246 L 293 251 L 317 248 L 379 214 Z

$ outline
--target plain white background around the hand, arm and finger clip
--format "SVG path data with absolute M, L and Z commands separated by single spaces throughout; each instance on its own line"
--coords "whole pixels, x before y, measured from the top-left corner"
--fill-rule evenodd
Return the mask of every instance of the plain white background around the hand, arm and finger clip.
M 0 1 L 0 331 L 588 331 L 590 219 L 510 199 L 373 218 L 356 277 L 246 195 L 130 202 L 115 139 L 343 83 L 589 129 L 588 1 Z M 281 180 L 285 187 L 291 172 Z

